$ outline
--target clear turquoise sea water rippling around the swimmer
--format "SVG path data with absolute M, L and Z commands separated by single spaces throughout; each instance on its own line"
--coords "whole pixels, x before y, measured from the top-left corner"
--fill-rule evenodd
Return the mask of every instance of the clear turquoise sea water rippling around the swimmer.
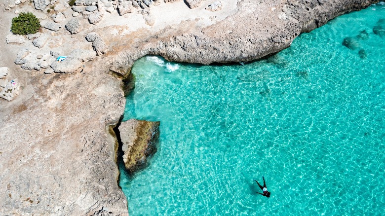
M 129 214 L 384 214 L 380 19 L 385 5 L 372 5 L 244 66 L 138 60 L 124 119 L 161 124 L 150 166 L 122 174 Z M 342 45 L 362 30 L 359 49 Z M 262 176 L 269 199 L 256 194 Z

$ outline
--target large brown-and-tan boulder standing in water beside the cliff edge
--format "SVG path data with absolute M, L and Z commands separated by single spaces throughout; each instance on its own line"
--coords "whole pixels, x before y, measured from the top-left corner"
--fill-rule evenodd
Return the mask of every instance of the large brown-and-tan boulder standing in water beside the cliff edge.
M 144 167 L 147 158 L 156 152 L 160 122 L 130 119 L 118 128 L 124 152 L 124 165 L 130 173 Z

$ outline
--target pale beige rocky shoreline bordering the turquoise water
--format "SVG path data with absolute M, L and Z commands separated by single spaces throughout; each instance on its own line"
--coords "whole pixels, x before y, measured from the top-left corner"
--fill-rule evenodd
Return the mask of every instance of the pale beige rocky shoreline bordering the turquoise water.
M 8 50 L 0 54 L 0 68 L 7 67 L 1 77 L 20 85 L 18 96 L 0 101 L 0 215 L 128 214 L 109 127 L 119 123 L 125 107 L 121 79 L 138 58 L 252 61 L 338 15 L 378 2 L 77 0 L 77 12 L 67 0 L 16 1 L 0 5 L 7 9 L 0 15 L 0 47 Z M 7 38 L 11 18 L 35 8 L 41 10 L 40 35 Z M 48 9 L 54 11 L 50 17 Z M 23 47 L 31 52 L 20 53 Z M 67 55 L 68 65 L 54 61 L 58 54 Z

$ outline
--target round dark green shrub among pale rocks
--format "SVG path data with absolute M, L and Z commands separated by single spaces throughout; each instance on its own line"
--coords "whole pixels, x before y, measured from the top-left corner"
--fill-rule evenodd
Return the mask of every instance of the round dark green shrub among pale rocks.
M 31 12 L 21 12 L 19 16 L 12 19 L 11 32 L 15 35 L 35 34 L 39 29 L 39 19 Z

